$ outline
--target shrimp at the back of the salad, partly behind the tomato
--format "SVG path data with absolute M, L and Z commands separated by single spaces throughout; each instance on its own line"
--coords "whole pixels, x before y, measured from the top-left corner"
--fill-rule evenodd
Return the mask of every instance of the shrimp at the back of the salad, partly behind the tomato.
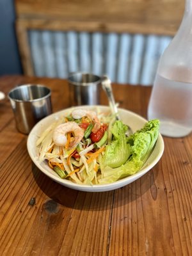
M 79 118 L 82 118 L 83 116 L 88 116 L 88 118 L 90 118 L 94 122 L 92 132 L 97 132 L 100 128 L 100 122 L 99 122 L 99 118 L 97 117 L 97 113 L 95 111 L 80 109 L 80 108 L 74 109 L 74 111 L 72 111 L 72 117 L 74 119 L 79 119 Z

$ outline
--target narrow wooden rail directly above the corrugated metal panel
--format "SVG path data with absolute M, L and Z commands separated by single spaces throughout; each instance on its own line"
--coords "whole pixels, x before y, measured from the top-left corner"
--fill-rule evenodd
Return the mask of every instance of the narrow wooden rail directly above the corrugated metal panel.
M 178 24 L 145 24 L 140 22 L 115 22 L 104 20 L 54 20 L 50 19 L 17 19 L 17 27 L 28 29 L 40 29 L 51 31 L 88 31 L 88 32 L 102 32 L 102 33 L 141 33 L 141 34 L 154 34 L 154 35 L 175 35 Z M 18 35 L 19 36 L 19 35 Z M 25 38 L 24 38 L 25 39 Z M 21 40 L 22 41 L 22 40 Z

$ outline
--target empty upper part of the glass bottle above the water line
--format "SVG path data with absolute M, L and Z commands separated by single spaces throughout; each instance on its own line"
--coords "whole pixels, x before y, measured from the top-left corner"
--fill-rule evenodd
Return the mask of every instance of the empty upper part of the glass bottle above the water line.
M 186 0 L 180 27 L 159 62 L 158 74 L 173 81 L 192 83 L 192 0 Z

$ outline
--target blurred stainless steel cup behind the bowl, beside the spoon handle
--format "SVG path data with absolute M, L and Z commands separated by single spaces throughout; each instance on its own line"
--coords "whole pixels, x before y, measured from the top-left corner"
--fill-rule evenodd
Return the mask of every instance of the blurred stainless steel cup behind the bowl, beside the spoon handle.
M 72 106 L 100 104 L 101 79 L 94 74 L 75 72 L 68 77 Z

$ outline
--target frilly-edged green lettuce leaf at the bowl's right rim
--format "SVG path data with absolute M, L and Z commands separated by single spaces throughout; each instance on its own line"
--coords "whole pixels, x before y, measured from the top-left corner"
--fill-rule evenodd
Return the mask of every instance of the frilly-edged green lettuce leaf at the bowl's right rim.
M 118 168 L 106 166 L 102 170 L 103 175 L 99 183 L 115 182 L 138 172 L 150 156 L 158 136 L 159 120 L 157 119 L 147 122 L 142 129 L 129 136 L 127 143 L 130 146 L 131 156 L 125 164 Z

